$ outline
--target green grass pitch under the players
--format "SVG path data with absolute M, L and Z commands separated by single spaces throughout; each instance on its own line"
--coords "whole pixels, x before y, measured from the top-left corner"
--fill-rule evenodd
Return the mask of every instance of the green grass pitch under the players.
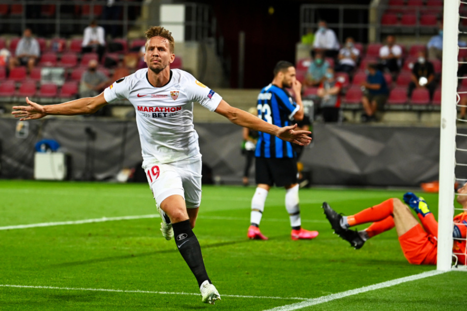
M 261 222 L 270 240 L 248 240 L 253 192 L 203 187 L 194 232 L 222 297 L 214 306 L 201 303 L 160 219 L 140 218 L 0 230 L 0 310 L 268 310 L 436 268 L 410 265 L 395 230 L 354 250 L 332 234 L 321 209 L 327 201 L 353 214 L 403 190 L 301 189 L 302 226 L 320 232 L 311 241 L 291 240 L 280 188 Z M 423 196 L 437 216 L 438 195 Z M 157 211 L 147 184 L 0 181 L 2 228 L 148 214 Z M 299 310 L 462 310 L 466 287 L 467 274 L 454 271 Z

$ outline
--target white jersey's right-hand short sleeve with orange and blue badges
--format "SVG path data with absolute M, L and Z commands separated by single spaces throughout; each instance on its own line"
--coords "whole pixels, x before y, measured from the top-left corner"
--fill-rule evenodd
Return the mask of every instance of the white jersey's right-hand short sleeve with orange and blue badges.
M 184 86 L 187 96 L 192 102 L 198 102 L 210 111 L 216 110 L 222 100 L 219 94 L 196 80 L 192 75 L 187 75 Z

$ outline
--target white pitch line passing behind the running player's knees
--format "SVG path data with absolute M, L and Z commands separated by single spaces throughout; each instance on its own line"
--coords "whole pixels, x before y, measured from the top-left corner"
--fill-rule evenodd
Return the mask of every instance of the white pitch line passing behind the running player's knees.
M 81 224 L 89 224 L 89 223 L 97 223 L 97 222 L 106 222 L 106 221 L 118 221 L 118 220 L 133 220 L 133 219 L 145 219 L 145 218 L 160 218 L 159 214 L 150 214 L 150 215 L 137 215 L 137 216 L 121 216 L 121 217 L 102 217 L 102 218 L 95 218 L 95 219 L 83 219 L 83 220 L 70 220 L 70 221 L 56 221 L 56 222 L 45 222 L 45 223 L 37 223 L 37 224 L 27 224 L 27 225 L 14 225 L 14 226 L 4 226 L 0 227 L 0 231 L 2 230 L 14 230 L 14 229 L 28 229 L 28 228 L 37 228 L 37 227 L 53 227 L 53 226 L 63 226 L 63 225 L 81 225 Z M 219 216 L 201 216 L 198 219 L 219 219 L 219 220 L 241 220 L 241 221 L 249 221 L 249 218 L 241 218 L 241 217 L 219 217 Z M 274 221 L 274 222 L 283 222 L 288 221 L 287 218 L 283 219 L 267 219 L 263 221 Z M 310 222 L 310 223 L 327 223 L 327 220 L 314 220 L 314 219 L 302 219 L 302 222 Z

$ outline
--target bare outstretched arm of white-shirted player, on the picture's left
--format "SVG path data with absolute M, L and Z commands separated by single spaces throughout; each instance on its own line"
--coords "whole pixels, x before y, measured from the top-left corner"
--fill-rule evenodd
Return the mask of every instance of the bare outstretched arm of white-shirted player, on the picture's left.
M 101 93 L 95 97 L 85 97 L 62 104 L 46 106 L 36 104 L 26 98 L 26 104 L 25 106 L 13 106 L 14 111 L 11 114 L 15 118 L 20 118 L 21 121 L 40 119 L 47 115 L 91 114 L 105 106 L 107 102 L 104 93 Z

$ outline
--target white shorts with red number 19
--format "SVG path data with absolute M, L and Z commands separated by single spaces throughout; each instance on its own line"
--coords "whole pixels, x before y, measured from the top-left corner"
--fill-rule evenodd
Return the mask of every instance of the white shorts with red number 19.
M 170 164 L 143 162 L 149 187 L 152 190 L 157 207 L 172 195 L 185 199 L 187 208 L 201 204 L 201 155 Z

